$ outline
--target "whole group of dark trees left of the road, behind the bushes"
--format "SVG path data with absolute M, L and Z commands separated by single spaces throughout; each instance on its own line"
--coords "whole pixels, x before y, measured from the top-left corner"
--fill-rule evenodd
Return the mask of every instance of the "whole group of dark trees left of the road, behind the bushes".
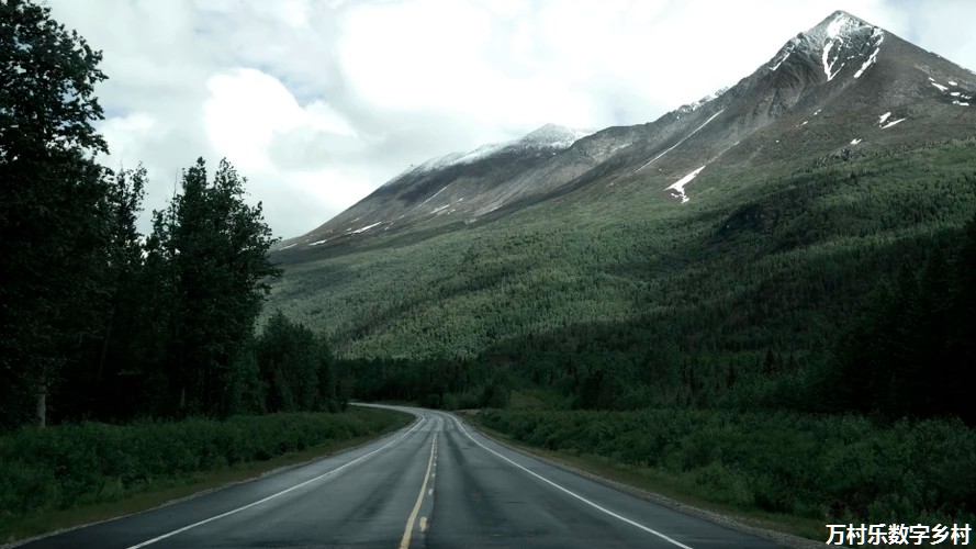
M 261 205 L 227 161 L 136 220 L 146 171 L 100 166 L 101 54 L 29 1 L 0 4 L 0 428 L 337 410 L 328 347 L 276 317 Z

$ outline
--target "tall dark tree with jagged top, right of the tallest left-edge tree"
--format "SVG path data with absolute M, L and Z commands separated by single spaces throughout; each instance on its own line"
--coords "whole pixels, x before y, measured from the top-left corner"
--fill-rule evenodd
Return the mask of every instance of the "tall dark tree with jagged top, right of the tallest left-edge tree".
M 183 173 L 182 194 L 156 213 L 149 254 L 168 266 L 173 309 L 166 374 L 181 414 L 228 412 L 235 360 L 269 277 L 280 272 L 268 260 L 274 240 L 261 205 L 244 200 L 245 182 L 226 160 L 207 181 L 198 159 Z

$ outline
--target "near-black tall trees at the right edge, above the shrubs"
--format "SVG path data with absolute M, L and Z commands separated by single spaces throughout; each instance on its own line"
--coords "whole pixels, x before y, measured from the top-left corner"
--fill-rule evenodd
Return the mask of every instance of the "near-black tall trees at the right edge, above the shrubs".
M 976 424 L 976 217 L 921 269 L 906 262 L 840 336 L 822 400 L 834 410 Z

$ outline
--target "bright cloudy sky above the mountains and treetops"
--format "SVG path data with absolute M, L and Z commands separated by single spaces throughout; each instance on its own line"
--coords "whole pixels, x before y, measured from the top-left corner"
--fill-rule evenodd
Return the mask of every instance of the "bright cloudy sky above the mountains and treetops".
M 146 212 L 198 157 L 304 234 L 411 165 L 556 123 L 642 124 L 845 10 L 976 69 L 972 0 L 46 0 L 101 49 L 110 168 Z

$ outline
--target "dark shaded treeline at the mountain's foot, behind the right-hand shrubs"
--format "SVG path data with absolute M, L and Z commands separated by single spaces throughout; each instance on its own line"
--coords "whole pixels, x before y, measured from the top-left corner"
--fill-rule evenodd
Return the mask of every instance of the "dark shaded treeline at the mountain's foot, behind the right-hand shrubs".
M 758 289 L 767 293 L 725 316 L 703 304 L 530 332 L 470 359 L 341 363 L 355 377 L 357 397 L 431 407 L 504 407 L 516 391 L 548 395 L 546 405 L 562 408 L 861 412 L 888 419 L 958 416 L 972 424 L 976 219 L 854 257 L 833 268 L 797 261 L 777 274 L 790 282 L 760 280 Z M 835 279 L 841 276 L 861 280 L 844 283 Z M 795 309 L 781 303 L 784 293 Z M 782 339 L 789 324 L 769 320 L 787 314 L 810 334 Z M 743 318 L 745 325 L 736 324 Z M 818 348 L 807 343 L 814 336 Z

